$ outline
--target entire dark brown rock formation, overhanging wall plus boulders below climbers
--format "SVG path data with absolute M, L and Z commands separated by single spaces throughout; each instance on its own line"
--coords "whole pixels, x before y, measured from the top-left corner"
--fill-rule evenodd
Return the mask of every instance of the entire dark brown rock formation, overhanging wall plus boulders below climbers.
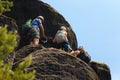
M 11 12 L 4 14 L 16 20 L 20 36 L 23 34 L 21 32 L 21 26 L 26 20 L 42 15 L 45 18 L 44 26 L 47 37 L 53 38 L 60 25 L 65 25 L 72 48 L 77 48 L 76 35 L 71 29 L 71 26 L 50 5 L 40 0 L 11 1 L 14 2 L 14 7 Z M 7 20 L 9 18 L 1 18 L 0 16 L 0 25 L 3 25 L 3 23 L 7 24 Z M 11 23 L 13 20 L 10 19 L 9 21 Z M 9 30 L 15 30 L 16 28 L 10 27 Z M 92 61 L 88 65 L 81 59 L 71 56 L 62 50 L 44 48 L 41 45 L 25 45 L 27 45 L 27 39 L 21 38 L 19 50 L 9 55 L 6 60 L 13 64 L 12 69 L 14 70 L 19 62 L 29 54 L 32 54 L 32 64 L 29 66 L 28 71 L 36 70 L 35 80 L 111 80 L 110 69 L 106 64 Z M 51 43 L 47 45 L 51 45 Z

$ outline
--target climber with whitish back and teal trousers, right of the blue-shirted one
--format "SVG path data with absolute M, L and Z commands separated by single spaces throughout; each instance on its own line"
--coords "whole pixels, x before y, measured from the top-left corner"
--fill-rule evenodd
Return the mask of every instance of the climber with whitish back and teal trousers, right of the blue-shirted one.
M 67 29 L 65 26 L 61 26 L 60 30 L 57 31 L 53 39 L 53 43 L 57 43 L 57 48 L 71 52 L 72 48 L 68 42 Z

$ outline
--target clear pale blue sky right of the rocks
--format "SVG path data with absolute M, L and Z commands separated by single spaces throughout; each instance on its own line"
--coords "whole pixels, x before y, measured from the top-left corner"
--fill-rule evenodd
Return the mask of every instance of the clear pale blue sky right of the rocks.
M 78 45 L 120 80 L 120 0 L 43 0 L 72 26 Z

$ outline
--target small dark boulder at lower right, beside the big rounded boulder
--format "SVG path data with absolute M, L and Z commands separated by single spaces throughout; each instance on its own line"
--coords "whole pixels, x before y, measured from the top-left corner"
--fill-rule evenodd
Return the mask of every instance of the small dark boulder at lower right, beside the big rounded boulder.
M 104 63 L 92 61 L 91 67 L 95 70 L 100 80 L 111 80 L 110 68 Z

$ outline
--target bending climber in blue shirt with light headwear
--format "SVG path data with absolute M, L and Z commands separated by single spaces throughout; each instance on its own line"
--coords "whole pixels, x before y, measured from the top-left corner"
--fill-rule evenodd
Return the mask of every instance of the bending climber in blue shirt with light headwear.
M 43 27 L 43 24 L 42 24 L 43 22 L 44 22 L 44 17 L 43 16 L 38 16 L 31 21 L 31 24 L 30 24 L 30 27 L 31 27 L 31 30 L 30 30 L 30 35 L 31 35 L 30 44 L 38 45 L 39 42 L 40 42 L 39 39 L 42 39 L 43 41 L 47 41 L 45 31 L 44 31 L 44 27 Z

